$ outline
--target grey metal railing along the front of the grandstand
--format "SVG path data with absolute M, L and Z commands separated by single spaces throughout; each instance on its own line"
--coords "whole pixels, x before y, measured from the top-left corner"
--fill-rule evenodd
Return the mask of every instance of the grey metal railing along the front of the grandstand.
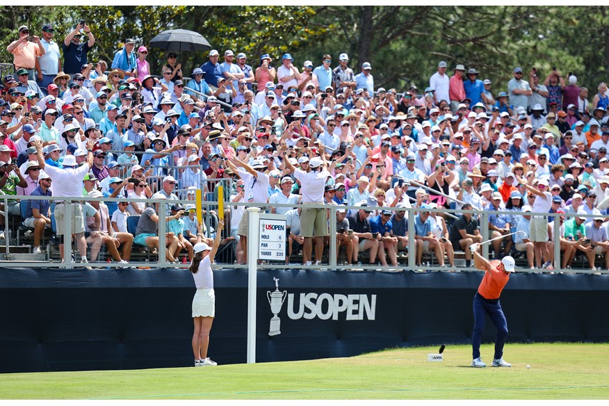
M 5 200 L 13 200 L 13 199 L 24 199 L 24 200 L 51 200 L 51 201 L 61 201 L 61 202 L 90 202 L 90 201 L 99 201 L 99 202 L 120 202 L 120 201 L 124 201 L 123 199 L 111 199 L 111 198 L 90 198 L 90 197 L 73 197 L 73 198 L 65 198 L 65 197 L 42 197 L 42 196 L 10 196 L 10 195 L 5 195 L 3 196 Z M 211 196 L 208 196 L 211 197 Z M 161 236 L 160 238 L 160 242 L 159 242 L 159 250 L 158 250 L 158 254 L 159 254 L 159 258 L 156 262 L 138 262 L 138 263 L 129 263 L 129 266 L 144 266 L 144 267 L 159 267 L 159 268 L 163 268 L 163 267 L 167 267 L 167 266 L 180 266 L 180 267 L 186 267 L 186 265 L 184 264 L 180 264 L 180 265 L 176 265 L 174 263 L 168 263 L 168 261 L 166 261 L 165 258 L 165 252 L 166 252 L 166 247 L 165 247 L 165 229 L 166 229 L 166 225 L 165 225 L 165 213 L 166 213 L 166 207 L 168 204 L 176 204 L 176 203 L 180 203 L 180 204 L 189 204 L 189 203 L 193 203 L 193 200 L 152 200 L 152 199 L 133 199 L 130 200 L 130 202 L 145 202 L 145 203 L 159 203 L 159 230 L 158 230 L 158 235 Z M 207 225 L 207 230 L 209 232 L 209 230 L 211 230 L 210 227 L 210 221 L 217 221 L 215 218 L 212 218 L 209 214 L 209 211 L 213 210 L 213 211 L 218 211 L 218 202 L 217 200 L 206 200 L 204 203 L 204 209 L 206 209 L 207 215 L 204 216 L 204 219 L 206 221 L 206 225 Z M 245 208 L 250 207 L 250 206 L 257 206 L 257 207 L 261 207 L 264 211 L 270 211 L 270 207 L 288 207 L 290 209 L 294 209 L 298 206 L 294 206 L 291 204 L 261 204 L 261 203 L 247 203 L 247 202 L 230 202 L 229 204 L 225 204 L 225 218 L 227 218 L 227 226 L 225 227 L 225 236 L 229 236 L 230 234 L 230 225 L 229 225 L 229 221 L 230 221 L 230 214 L 229 212 L 231 211 L 229 206 L 245 206 Z M 350 211 L 357 213 L 357 211 L 360 209 L 359 206 L 334 206 L 334 205 L 324 205 L 324 204 L 307 204 L 306 206 L 301 206 L 301 207 L 306 207 L 306 208 L 323 208 L 323 209 L 327 209 L 329 211 L 329 218 L 330 219 L 336 219 L 336 210 L 337 209 L 348 209 Z M 71 213 L 72 210 L 72 206 L 70 204 L 65 205 L 65 209 L 66 209 L 66 213 L 65 213 L 65 218 L 64 218 L 64 222 L 65 222 L 65 230 L 71 230 L 72 229 L 72 221 L 73 221 L 73 216 Z M 404 211 L 405 215 L 407 217 L 407 229 L 409 230 L 408 232 L 408 247 L 407 247 L 407 252 L 409 253 L 407 256 L 407 263 L 405 264 L 398 264 L 398 268 L 400 269 L 405 269 L 405 270 L 417 270 L 419 268 L 421 268 L 420 266 L 416 266 L 415 264 L 415 256 L 414 256 L 414 252 L 415 252 L 415 241 L 414 241 L 414 234 L 413 234 L 413 230 L 415 230 L 415 216 L 421 212 L 421 211 L 430 211 L 430 212 L 435 212 L 435 213 L 453 213 L 453 215 L 460 215 L 462 213 L 471 213 L 474 216 L 479 216 L 480 217 L 480 221 L 479 224 L 481 225 L 480 227 L 480 234 L 482 236 L 482 241 L 488 241 L 490 238 L 490 232 L 489 232 L 489 228 L 487 227 L 488 223 L 489 223 L 489 216 L 494 215 L 494 214 L 503 214 L 503 215 L 507 215 L 507 216 L 522 216 L 523 213 L 518 212 L 518 211 L 493 211 L 493 210 L 486 210 L 486 211 L 471 211 L 471 210 L 457 210 L 457 209 L 421 209 L 421 208 L 405 208 L 405 207 L 380 207 L 380 206 L 368 206 L 366 208 L 366 210 L 389 210 L 389 211 Z M 534 216 L 534 217 L 555 217 L 558 220 L 558 216 L 555 213 L 526 213 L 526 215 L 530 215 L 530 216 Z M 5 213 L 5 216 L 6 213 Z M 592 219 L 592 218 L 596 218 L 599 217 L 598 215 L 583 215 L 580 213 L 560 213 L 560 216 L 565 217 L 566 220 L 568 220 L 569 218 L 573 218 L 573 217 L 585 217 L 588 219 Z M 8 216 L 6 218 L 6 220 L 8 220 Z M 329 235 L 330 236 L 336 236 L 336 221 L 329 221 L 328 222 L 328 227 L 329 227 Z M 8 221 L 6 222 L 6 224 L 8 225 Z M 448 227 L 448 225 L 447 225 Z M 553 223 L 553 236 L 560 236 L 560 221 L 555 221 Z M 450 234 L 450 227 L 448 227 L 449 229 L 449 234 Z M 65 241 L 71 241 L 71 235 L 68 234 L 65 236 Z M 560 250 L 560 238 L 553 238 L 552 240 L 553 243 L 553 247 L 554 247 L 554 257 L 553 257 L 553 263 L 555 264 L 555 268 L 553 270 L 553 272 L 555 273 L 591 273 L 592 270 L 586 270 L 586 269 L 562 269 L 560 268 L 560 264 L 561 264 L 561 250 Z M 8 248 L 8 235 L 7 235 L 7 240 L 6 240 L 6 245 Z M 320 265 L 320 266 L 316 266 L 315 268 L 320 268 L 320 269 L 324 269 L 324 270 L 336 270 L 336 268 L 343 268 L 342 265 L 339 265 L 336 261 L 336 238 L 329 238 L 328 241 L 328 249 L 327 249 L 327 258 L 328 258 L 328 262 L 326 265 Z M 465 248 L 467 249 L 467 247 Z M 489 245 L 482 245 L 482 255 L 484 257 L 488 257 L 488 253 L 489 253 Z M 65 263 L 49 263 L 49 262 L 41 262 L 41 263 L 36 263 L 36 262 L 18 262 L 18 261 L 1 261 L 0 263 L 2 263 L 3 265 L 7 266 L 25 266 L 25 267 L 38 267 L 38 266 L 62 266 L 65 268 L 74 268 L 75 266 L 79 266 L 79 264 L 74 263 L 71 260 L 71 244 L 70 243 L 66 243 L 64 245 L 64 252 L 63 252 L 63 257 L 65 259 Z M 412 253 L 412 254 L 410 254 Z M 97 266 L 97 265 L 96 265 Z M 103 267 L 122 267 L 122 265 L 118 264 L 118 263 L 101 263 L 99 266 L 103 266 Z M 355 265 L 354 265 L 355 266 Z M 247 265 L 236 265 L 234 263 L 232 263 L 232 261 L 226 261 L 226 263 L 217 263 L 215 265 L 216 268 L 225 268 L 225 267 L 230 267 L 230 268 L 242 268 L 242 269 L 247 269 Z M 259 265 L 259 268 L 268 268 L 268 269 L 277 269 L 277 268 L 308 268 L 310 269 L 311 266 L 305 267 L 303 265 L 286 265 L 285 263 L 261 263 Z M 384 270 L 384 268 L 382 266 L 378 266 L 378 265 L 373 265 L 373 266 L 366 266 L 366 265 L 357 265 L 357 268 L 362 268 L 364 270 L 375 270 L 378 268 L 382 268 Z M 395 266 L 389 266 L 389 268 L 396 268 Z M 425 270 L 444 270 L 446 271 L 446 268 L 440 268 L 439 266 L 423 266 L 423 268 L 425 268 Z M 458 266 L 457 268 L 455 268 L 455 270 L 476 270 L 476 268 L 473 268 L 472 266 L 466 267 L 466 266 Z M 519 272 L 531 272 L 531 270 L 527 268 L 518 268 Z M 535 269 L 533 270 L 533 272 L 546 272 L 546 270 L 542 270 L 542 269 Z M 596 271 L 596 272 L 601 272 L 601 271 Z M 603 273 L 607 273 L 606 270 L 602 271 Z

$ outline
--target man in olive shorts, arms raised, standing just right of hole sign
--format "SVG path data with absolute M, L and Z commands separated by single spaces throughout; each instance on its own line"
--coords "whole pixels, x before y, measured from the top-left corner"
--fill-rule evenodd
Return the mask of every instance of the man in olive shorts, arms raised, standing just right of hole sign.
M 311 158 L 309 168 L 311 172 L 304 172 L 295 168 L 288 160 L 285 161 L 286 168 L 300 181 L 300 194 L 302 195 L 302 208 L 300 214 L 300 235 L 304 237 L 302 248 L 302 261 L 304 265 L 311 265 L 311 252 L 313 250 L 313 238 L 315 238 L 315 263 L 321 263 L 323 254 L 323 238 L 328 235 L 327 216 L 323 208 L 307 208 L 307 204 L 323 204 L 325 181 L 330 176 L 327 170 L 325 156 Z

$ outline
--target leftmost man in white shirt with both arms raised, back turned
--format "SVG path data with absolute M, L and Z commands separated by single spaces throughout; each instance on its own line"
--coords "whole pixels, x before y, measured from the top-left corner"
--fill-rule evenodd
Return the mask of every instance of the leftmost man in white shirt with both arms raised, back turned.
M 35 140 L 32 143 L 38 154 L 38 165 L 53 179 L 53 195 L 63 197 L 82 197 L 83 179 L 93 166 L 93 147 L 95 143 L 89 141 L 87 143 L 88 159 L 87 163 L 76 166 L 76 158 L 73 155 L 66 155 L 63 159 L 63 168 L 56 168 L 53 165 L 47 165 L 42 155 L 42 142 Z M 72 235 L 76 240 L 76 246 L 81 254 L 81 263 L 88 263 L 87 260 L 87 243 L 85 240 L 85 229 L 83 222 L 83 206 L 79 202 L 72 202 L 72 230 L 68 232 L 70 235 L 70 244 L 72 243 Z M 55 206 L 55 221 L 57 234 L 61 236 L 59 244 L 59 254 L 63 260 L 63 243 L 67 230 L 64 229 L 65 206 L 63 202 L 58 202 Z

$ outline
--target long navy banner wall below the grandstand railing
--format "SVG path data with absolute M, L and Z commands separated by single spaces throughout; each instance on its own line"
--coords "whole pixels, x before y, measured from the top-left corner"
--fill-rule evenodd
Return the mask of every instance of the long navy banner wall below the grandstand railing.
M 246 357 L 247 272 L 217 270 L 209 356 Z M 257 362 L 469 343 L 482 273 L 259 271 Z M 608 275 L 513 274 L 510 341 L 609 341 Z M 190 366 L 187 270 L 0 270 L 0 372 Z M 494 339 L 487 323 L 484 341 Z M 154 356 L 151 356 L 154 354 Z

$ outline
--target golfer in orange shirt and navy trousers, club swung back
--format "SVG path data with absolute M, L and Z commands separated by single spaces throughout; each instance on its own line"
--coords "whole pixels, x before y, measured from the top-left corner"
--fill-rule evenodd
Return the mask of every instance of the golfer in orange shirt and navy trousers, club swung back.
M 503 361 L 503 345 L 507 338 L 507 320 L 503 315 L 499 296 L 507 281 L 510 279 L 510 273 L 514 272 L 515 261 L 512 257 L 503 257 L 501 261 L 489 261 L 483 258 L 478 250 L 480 243 L 473 243 L 469 246 L 473 255 L 473 263 L 476 268 L 485 270 L 485 276 L 482 277 L 482 282 L 478 286 L 478 291 L 473 297 L 473 333 L 471 336 L 471 347 L 473 361 L 471 366 L 484 368 L 487 366 L 480 359 L 480 343 L 482 343 L 482 330 L 485 329 L 486 315 L 488 314 L 491 321 L 497 329 L 495 338 L 495 356 L 492 366 L 512 366 Z

